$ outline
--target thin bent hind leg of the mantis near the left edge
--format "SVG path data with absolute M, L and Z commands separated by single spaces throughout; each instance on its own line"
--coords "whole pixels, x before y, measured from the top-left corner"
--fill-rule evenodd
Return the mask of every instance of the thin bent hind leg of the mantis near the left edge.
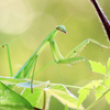
M 8 62 L 9 62 L 9 69 L 10 69 L 10 76 L 13 77 L 13 72 L 12 72 L 12 65 L 11 65 L 11 58 L 10 58 L 10 51 L 8 44 L 2 44 L 0 47 L 6 47 L 7 53 L 8 53 Z

